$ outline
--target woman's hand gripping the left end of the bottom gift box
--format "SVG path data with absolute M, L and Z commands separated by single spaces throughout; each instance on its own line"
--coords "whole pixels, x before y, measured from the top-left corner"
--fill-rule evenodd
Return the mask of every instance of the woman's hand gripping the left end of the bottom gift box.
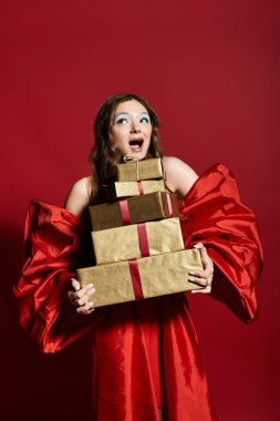
M 68 291 L 68 297 L 72 306 L 75 307 L 76 312 L 82 316 L 90 315 L 94 311 L 93 302 L 89 301 L 90 297 L 95 292 L 92 284 L 81 288 L 79 281 L 71 278 L 72 290 Z M 74 289 L 74 291 L 73 291 Z

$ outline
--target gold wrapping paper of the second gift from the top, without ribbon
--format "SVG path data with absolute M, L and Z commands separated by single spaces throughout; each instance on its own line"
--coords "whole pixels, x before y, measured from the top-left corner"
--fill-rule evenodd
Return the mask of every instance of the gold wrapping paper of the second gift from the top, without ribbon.
M 143 181 L 142 187 L 143 193 L 155 193 L 155 192 L 165 192 L 165 184 L 163 179 L 148 179 Z M 102 199 L 104 202 L 111 202 L 115 198 L 129 197 L 129 196 L 139 196 L 139 187 L 137 182 L 124 182 L 124 183 L 112 183 L 102 188 Z

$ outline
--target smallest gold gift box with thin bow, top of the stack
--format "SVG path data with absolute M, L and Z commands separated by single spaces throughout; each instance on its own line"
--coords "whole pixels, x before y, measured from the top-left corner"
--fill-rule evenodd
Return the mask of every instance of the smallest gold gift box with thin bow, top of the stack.
M 116 171 L 118 182 L 164 178 L 164 167 L 160 158 L 118 164 Z

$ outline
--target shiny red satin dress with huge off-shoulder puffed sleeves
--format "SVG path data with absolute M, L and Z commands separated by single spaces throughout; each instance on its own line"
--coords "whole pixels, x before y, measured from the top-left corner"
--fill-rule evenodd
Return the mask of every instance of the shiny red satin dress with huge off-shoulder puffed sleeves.
M 262 251 L 255 215 L 218 164 L 194 184 L 180 210 L 186 248 L 201 242 L 214 260 L 211 296 L 243 321 L 256 317 Z M 96 421 L 156 421 L 162 394 L 169 421 L 217 420 L 209 399 L 186 294 L 127 302 L 79 316 L 66 298 L 81 267 L 85 230 L 58 206 L 31 202 L 27 263 L 14 288 L 20 321 L 43 352 L 93 337 Z

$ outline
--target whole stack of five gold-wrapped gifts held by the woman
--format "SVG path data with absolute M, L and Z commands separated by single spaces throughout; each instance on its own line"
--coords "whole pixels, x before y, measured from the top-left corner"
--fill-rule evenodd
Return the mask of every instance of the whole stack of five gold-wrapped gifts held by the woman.
M 90 207 L 96 266 L 77 269 L 93 284 L 94 307 L 199 289 L 188 271 L 203 268 L 199 250 L 184 249 L 177 195 L 165 188 L 162 160 L 117 165 Z

